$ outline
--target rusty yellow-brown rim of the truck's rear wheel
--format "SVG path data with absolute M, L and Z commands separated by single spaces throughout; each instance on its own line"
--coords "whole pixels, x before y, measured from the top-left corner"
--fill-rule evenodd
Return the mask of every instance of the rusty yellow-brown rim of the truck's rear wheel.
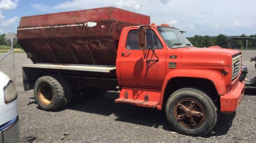
M 53 101 L 53 95 L 54 93 L 52 88 L 49 87 L 47 84 L 42 84 L 40 86 L 40 89 L 38 91 L 38 97 L 43 104 L 45 105 L 51 104 Z

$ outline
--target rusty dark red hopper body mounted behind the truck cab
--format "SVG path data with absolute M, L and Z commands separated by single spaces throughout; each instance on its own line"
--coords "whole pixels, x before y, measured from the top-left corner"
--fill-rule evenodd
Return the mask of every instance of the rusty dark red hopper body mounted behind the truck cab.
M 123 27 L 150 17 L 115 7 L 26 16 L 18 43 L 34 63 L 115 65 Z

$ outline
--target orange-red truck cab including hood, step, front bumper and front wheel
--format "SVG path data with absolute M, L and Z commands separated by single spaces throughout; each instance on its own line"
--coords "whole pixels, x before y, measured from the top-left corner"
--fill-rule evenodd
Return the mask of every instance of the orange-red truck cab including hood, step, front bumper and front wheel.
M 196 48 L 178 29 L 161 25 L 128 27 L 121 35 L 116 71 L 122 89 L 115 102 L 166 105 L 170 124 L 189 135 L 198 135 L 194 128 L 211 130 L 205 122 L 216 124 L 218 112 L 236 111 L 244 93 L 241 51 Z

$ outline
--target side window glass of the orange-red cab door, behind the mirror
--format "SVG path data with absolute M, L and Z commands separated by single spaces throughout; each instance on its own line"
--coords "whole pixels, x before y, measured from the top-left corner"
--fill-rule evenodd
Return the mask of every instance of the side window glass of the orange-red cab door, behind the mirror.
M 159 38 L 156 36 L 155 32 L 151 29 L 147 29 L 147 48 L 155 48 L 155 49 L 162 49 L 162 44 Z M 138 37 L 137 37 L 137 30 L 131 30 L 128 33 L 126 46 L 125 49 L 127 50 L 139 50 L 138 48 Z

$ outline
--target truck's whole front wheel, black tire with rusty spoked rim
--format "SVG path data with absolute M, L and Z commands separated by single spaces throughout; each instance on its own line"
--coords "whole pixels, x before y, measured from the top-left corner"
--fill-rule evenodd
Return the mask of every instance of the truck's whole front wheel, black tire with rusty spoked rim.
M 166 116 L 179 133 L 203 136 L 216 125 L 218 111 L 209 95 L 189 87 L 171 94 L 166 103 Z

